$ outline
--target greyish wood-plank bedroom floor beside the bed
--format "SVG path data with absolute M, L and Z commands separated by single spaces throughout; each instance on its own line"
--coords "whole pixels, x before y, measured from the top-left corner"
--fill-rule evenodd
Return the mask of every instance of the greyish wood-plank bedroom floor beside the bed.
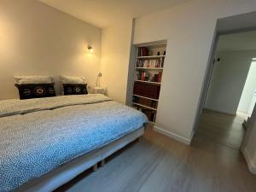
M 61 191 L 255 192 L 256 176 L 234 148 L 200 136 L 189 147 L 148 129 L 97 172 L 84 172 L 55 190 Z

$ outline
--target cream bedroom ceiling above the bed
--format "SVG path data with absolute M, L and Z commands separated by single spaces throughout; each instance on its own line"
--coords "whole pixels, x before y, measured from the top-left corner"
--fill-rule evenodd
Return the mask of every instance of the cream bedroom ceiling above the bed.
M 189 0 L 39 0 L 93 26 L 104 28 Z

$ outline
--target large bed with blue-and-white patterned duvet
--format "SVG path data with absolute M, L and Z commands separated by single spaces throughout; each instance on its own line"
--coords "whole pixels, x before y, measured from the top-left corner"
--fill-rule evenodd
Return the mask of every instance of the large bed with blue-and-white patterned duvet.
M 142 136 L 147 122 L 101 94 L 0 101 L 0 191 L 52 191 Z

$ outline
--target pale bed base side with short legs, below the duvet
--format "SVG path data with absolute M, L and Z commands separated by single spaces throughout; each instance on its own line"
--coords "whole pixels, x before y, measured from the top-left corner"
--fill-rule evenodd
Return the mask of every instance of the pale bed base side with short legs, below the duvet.
M 108 143 L 102 148 L 91 151 L 89 154 L 84 154 L 67 164 L 59 166 L 55 170 L 46 173 L 42 177 L 34 178 L 28 183 L 24 183 L 20 188 L 15 191 L 19 192 L 49 192 L 61 187 L 61 185 L 69 182 L 80 173 L 93 167 L 93 171 L 97 170 L 97 163 L 101 162 L 101 166 L 105 164 L 105 158 L 124 148 L 125 145 L 133 142 L 144 133 L 144 126 L 136 131 L 119 138 L 118 140 Z

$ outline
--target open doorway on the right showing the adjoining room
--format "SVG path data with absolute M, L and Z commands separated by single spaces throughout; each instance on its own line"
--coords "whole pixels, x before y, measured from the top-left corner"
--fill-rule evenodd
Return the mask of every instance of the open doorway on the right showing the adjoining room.
M 256 31 L 219 35 L 195 137 L 239 149 L 256 99 Z

